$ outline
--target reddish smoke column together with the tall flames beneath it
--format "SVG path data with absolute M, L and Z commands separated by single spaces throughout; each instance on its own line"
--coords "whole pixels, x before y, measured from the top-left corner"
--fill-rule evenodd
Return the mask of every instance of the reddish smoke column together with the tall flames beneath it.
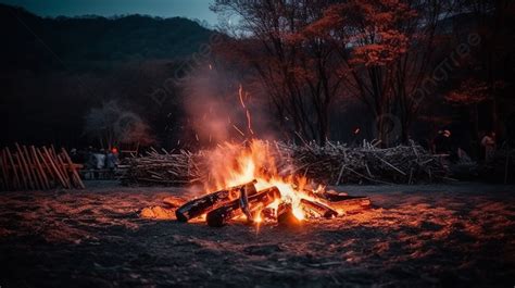
M 275 116 L 268 110 L 262 87 L 213 64 L 199 65 L 181 82 L 184 108 L 191 133 L 184 138 L 203 150 L 209 179 L 191 187 L 200 196 L 250 181 L 256 176 L 278 176 L 268 142 L 274 137 Z

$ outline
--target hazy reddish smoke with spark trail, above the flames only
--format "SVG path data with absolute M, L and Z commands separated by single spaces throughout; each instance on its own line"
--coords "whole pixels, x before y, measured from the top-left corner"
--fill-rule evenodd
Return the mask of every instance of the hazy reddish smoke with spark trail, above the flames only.
M 184 105 L 192 134 L 187 139 L 205 148 L 269 134 L 265 132 L 271 117 L 262 97 L 241 84 L 239 76 L 205 64 L 184 79 Z

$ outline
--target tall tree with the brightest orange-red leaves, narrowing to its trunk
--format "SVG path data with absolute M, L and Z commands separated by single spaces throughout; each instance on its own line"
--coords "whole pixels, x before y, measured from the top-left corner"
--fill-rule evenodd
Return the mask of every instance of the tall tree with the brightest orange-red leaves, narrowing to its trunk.
M 418 114 L 415 97 L 432 72 L 431 55 L 437 24 L 448 7 L 443 1 L 346 1 L 328 7 L 312 29 L 340 52 L 341 77 L 368 107 L 377 138 L 388 143 L 386 120 L 400 123 L 400 140 L 407 141 Z

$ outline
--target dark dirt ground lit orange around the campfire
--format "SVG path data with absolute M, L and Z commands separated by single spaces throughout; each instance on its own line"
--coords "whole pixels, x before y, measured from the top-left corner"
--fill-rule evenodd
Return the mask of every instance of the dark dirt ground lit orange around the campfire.
M 375 208 L 301 228 L 139 217 L 181 188 L 0 195 L 0 287 L 514 287 L 515 187 L 339 187 Z

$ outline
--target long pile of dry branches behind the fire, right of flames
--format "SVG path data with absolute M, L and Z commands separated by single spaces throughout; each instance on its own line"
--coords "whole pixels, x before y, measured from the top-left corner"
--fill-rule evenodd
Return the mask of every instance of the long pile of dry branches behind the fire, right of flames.
M 325 147 L 277 142 L 276 147 L 285 171 L 332 185 L 432 183 L 449 173 L 445 155 L 431 154 L 413 142 L 386 149 L 366 141 L 357 148 L 331 142 Z

